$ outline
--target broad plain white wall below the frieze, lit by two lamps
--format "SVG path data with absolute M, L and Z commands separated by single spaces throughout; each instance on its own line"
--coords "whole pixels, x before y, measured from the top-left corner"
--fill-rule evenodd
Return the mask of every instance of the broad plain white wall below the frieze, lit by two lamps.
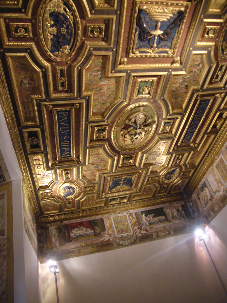
M 57 263 L 60 303 L 227 301 L 206 249 L 194 234 Z M 55 303 L 54 274 L 46 264 L 41 265 L 41 279 L 44 303 Z

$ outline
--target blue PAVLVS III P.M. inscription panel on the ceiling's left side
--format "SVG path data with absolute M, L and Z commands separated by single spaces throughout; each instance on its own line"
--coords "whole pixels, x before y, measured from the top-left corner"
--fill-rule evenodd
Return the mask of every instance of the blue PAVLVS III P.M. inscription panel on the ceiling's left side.
M 56 111 L 60 158 L 71 158 L 71 110 Z

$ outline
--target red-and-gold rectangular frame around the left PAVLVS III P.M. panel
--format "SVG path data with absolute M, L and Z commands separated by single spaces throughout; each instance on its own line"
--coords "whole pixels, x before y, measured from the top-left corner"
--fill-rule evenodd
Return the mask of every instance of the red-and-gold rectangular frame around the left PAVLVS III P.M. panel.
M 48 150 L 48 159 L 50 167 L 64 165 L 76 165 L 83 161 L 83 141 L 84 141 L 84 118 L 85 118 L 85 101 L 84 100 L 71 100 L 71 101 L 62 101 L 58 102 L 42 102 L 41 110 L 44 121 L 44 131 L 47 140 L 47 150 Z M 57 113 L 62 112 L 62 117 L 57 118 Z M 70 112 L 69 117 L 71 120 L 66 119 L 66 113 Z M 50 117 L 53 119 L 52 123 L 49 122 Z M 65 121 L 68 121 L 68 125 L 64 125 Z M 78 125 L 79 122 L 79 125 Z M 61 125 L 63 123 L 63 125 Z M 77 123 L 77 124 L 75 124 Z M 74 151 L 74 142 L 76 138 L 76 133 L 74 132 L 75 125 L 77 125 L 79 130 L 79 143 L 78 143 L 78 154 L 75 154 Z M 58 129 L 59 128 L 59 129 Z M 62 128 L 62 130 L 61 130 Z M 54 132 L 55 140 L 50 133 Z M 70 134 L 69 134 L 70 132 Z M 67 137 L 70 135 L 71 144 L 66 146 L 69 142 Z M 66 137 L 67 136 L 67 137 Z M 59 138 L 62 138 L 59 141 Z M 69 139 L 69 138 L 68 138 Z M 54 140 L 54 142 L 53 142 Z M 67 141 L 67 142 L 66 142 Z M 62 150 L 62 155 L 60 155 L 60 144 Z M 57 148 L 57 155 L 53 156 L 54 146 Z M 69 149 L 71 150 L 71 155 L 67 156 Z

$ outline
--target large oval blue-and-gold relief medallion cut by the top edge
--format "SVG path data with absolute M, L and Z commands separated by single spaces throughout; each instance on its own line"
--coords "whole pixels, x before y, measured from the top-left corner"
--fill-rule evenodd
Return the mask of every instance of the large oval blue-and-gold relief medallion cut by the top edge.
M 39 12 L 39 33 L 45 53 L 55 61 L 71 58 L 80 38 L 77 9 L 71 0 L 45 1 Z

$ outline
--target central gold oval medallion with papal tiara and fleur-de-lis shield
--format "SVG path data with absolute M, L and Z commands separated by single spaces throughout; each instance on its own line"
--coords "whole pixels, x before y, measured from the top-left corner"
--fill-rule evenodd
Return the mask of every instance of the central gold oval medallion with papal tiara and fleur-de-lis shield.
M 124 151 L 141 148 L 153 135 L 157 121 L 157 114 L 149 103 L 131 105 L 116 122 L 113 142 Z

